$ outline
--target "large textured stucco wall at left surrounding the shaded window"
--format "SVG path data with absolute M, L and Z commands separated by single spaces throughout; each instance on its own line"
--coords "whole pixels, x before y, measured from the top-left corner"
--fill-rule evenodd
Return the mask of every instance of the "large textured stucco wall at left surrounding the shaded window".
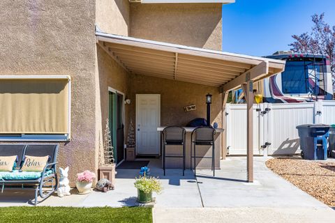
M 70 75 L 72 139 L 59 167 L 94 170 L 94 1 L 0 1 L 0 75 Z M 73 184 L 72 184 L 73 185 Z

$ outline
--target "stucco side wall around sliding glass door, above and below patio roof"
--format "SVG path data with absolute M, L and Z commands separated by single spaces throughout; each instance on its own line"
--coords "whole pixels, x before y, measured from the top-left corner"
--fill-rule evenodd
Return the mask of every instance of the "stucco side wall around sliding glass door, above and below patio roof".
M 101 31 L 128 36 L 130 29 L 128 0 L 96 0 L 96 25 Z M 103 160 L 103 134 L 108 118 L 108 86 L 127 93 L 127 73 L 101 47 L 96 45 L 96 154 L 97 166 Z M 125 107 L 125 127 L 128 110 Z

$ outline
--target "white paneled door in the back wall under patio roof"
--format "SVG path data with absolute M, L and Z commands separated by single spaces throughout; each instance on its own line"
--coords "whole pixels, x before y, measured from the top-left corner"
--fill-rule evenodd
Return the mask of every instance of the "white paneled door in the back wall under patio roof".
M 159 155 L 161 95 L 136 95 L 136 154 Z

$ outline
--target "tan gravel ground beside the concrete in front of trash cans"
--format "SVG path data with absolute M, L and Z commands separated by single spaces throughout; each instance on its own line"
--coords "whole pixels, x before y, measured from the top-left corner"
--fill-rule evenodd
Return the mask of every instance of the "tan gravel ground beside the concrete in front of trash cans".
M 335 162 L 276 158 L 267 167 L 328 206 L 335 206 Z

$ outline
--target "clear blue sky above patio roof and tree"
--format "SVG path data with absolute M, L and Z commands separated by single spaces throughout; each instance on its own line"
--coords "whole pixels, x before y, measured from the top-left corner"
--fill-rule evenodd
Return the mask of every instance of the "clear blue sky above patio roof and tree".
M 235 0 L 223 5 L 223 51 L 266 56 L 290 49 L 292 34 L 311 31 L 311 15 L 335 25 L 335 0 Z

